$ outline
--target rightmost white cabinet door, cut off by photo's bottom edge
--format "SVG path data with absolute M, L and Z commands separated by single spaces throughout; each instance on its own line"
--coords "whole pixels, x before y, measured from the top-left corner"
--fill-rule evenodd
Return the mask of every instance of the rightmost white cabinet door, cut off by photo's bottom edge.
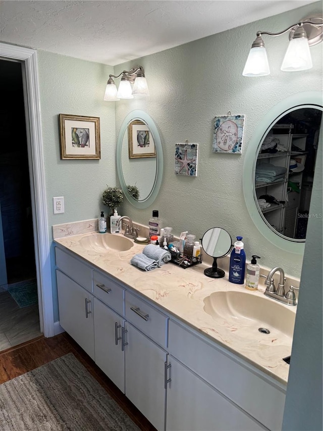
M 171 356 L 169 364 L 168 431 L 267 429 Z

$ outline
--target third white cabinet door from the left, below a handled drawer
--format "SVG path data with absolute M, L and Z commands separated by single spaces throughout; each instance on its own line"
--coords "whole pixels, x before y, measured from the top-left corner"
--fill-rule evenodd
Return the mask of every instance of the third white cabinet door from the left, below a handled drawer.
M 158 431 L 165 424 L 167 353 L 126 323 L 126 396 Z

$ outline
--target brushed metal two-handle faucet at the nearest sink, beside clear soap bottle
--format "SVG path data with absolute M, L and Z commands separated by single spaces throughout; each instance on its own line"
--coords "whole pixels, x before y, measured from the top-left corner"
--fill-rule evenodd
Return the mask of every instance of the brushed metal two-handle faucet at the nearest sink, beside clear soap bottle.
M 273 275 L 277 271 L 279 271 L 280 277 L 279 277 L 278 288 L 276 289 Z M 297 304 L 294 289 L 296 290 L 299 290 L 299 289 L 294 288 L 294 286 L 290 286 L 289 288 L 290 290 L 287 293 L 285 293 L 286 278 L 285 278 L 285 273 L 283 268 L 276 266 L 275 268 L 273 268 L 271 271 L 268 272 L 267 276 L 261 274 L 260 277 L 263 277 L 266 279 L 264 281 L 264 284 L 266 286 L 266 290 L 264 291 L 265 296 L 273 298 L 276 301 L 282 302 L 283 304 L 286 304 L 286 305 Z

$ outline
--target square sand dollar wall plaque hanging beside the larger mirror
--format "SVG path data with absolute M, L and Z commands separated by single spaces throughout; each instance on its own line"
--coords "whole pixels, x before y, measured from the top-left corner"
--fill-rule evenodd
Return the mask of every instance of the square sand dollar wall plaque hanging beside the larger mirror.
M 244 115 L 228 115 L 214 118 L 213 153 L 241 154 Z

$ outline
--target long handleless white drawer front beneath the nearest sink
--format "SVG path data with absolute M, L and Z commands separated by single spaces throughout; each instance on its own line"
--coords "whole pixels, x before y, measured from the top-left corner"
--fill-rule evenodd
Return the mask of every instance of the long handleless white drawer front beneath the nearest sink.
M 172 356 L 267 428 L 282 429 L 286 393 L 283 385 L 253 370 L 230 352 L 225 353 L 221 347 L 212 346 L 177 322 L 171 320 L 169 326 Z

